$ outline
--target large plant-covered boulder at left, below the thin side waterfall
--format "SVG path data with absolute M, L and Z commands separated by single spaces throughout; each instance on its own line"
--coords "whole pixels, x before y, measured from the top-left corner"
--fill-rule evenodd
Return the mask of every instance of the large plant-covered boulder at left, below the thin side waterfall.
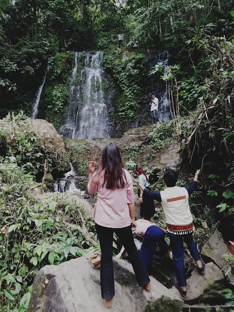
M 45 159 L 54 178 L 70 169 L 64 140 L 46 120 L 8 114 L 0 120 L 0 129 L 0 155 L 21 155 L 22 163 L 31 161 L 39 168 L 38 177 L 43 175 Z

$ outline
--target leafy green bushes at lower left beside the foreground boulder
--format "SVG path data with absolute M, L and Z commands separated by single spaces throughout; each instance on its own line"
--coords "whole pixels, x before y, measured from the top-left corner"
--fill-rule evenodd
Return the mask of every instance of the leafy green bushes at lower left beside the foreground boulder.
M 80 213 L 89 235 L 96 241 L 97 235 L 94 222 L 89 223 L 83 206 L 77 206 L 71 196 L 35 201 L 28 191 L 33 176 L 14 157 L 0 158 L 0 177 L 4 181 L 0 187 L 0 310 L 26 311 L 33 278 L 41 267 L 94 248 L 82 236 Z

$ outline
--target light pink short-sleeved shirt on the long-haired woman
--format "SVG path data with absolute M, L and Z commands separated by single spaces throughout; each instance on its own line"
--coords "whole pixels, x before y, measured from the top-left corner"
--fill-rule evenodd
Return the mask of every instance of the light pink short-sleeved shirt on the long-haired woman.
M 94 206 L 94 221 L 109 228 L 123 228 L 131 224 L 128 203 L 134 203 L 133 185 L 131 174 L 123 169 L 126 175 L 124 188 L 107 189 L 102 187 L 104 171 L 97 183 L 88 183 L 88 192 L 98 192 L 98 200 Z M 95 174 L 95 173 L 94 173 Z

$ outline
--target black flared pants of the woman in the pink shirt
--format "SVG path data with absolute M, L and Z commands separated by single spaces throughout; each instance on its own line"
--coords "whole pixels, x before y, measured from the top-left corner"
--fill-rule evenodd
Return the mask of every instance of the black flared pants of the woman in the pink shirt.
M 121 244 L 124 246 L 132 264 L 136 281 L 140 286 L 149 283 L 149 276 L 143 260 L 136 249 L 131 226 L 120 229 L 107 228 L 95 224 L 99 237 L 102 258 L 101 258 L 101 291 L 103 299 L 112 299 L 115 296 L 114 270 L 113 270 L 113 233 L 117 234 Z

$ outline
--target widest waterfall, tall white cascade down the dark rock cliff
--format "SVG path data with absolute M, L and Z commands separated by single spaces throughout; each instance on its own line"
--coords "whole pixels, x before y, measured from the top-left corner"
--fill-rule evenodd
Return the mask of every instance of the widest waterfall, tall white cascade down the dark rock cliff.
M 75 53 L 67 120 L 59 129 L 64 138 L 110 137 L 102 89 L 102 62 L 103 51 Z

